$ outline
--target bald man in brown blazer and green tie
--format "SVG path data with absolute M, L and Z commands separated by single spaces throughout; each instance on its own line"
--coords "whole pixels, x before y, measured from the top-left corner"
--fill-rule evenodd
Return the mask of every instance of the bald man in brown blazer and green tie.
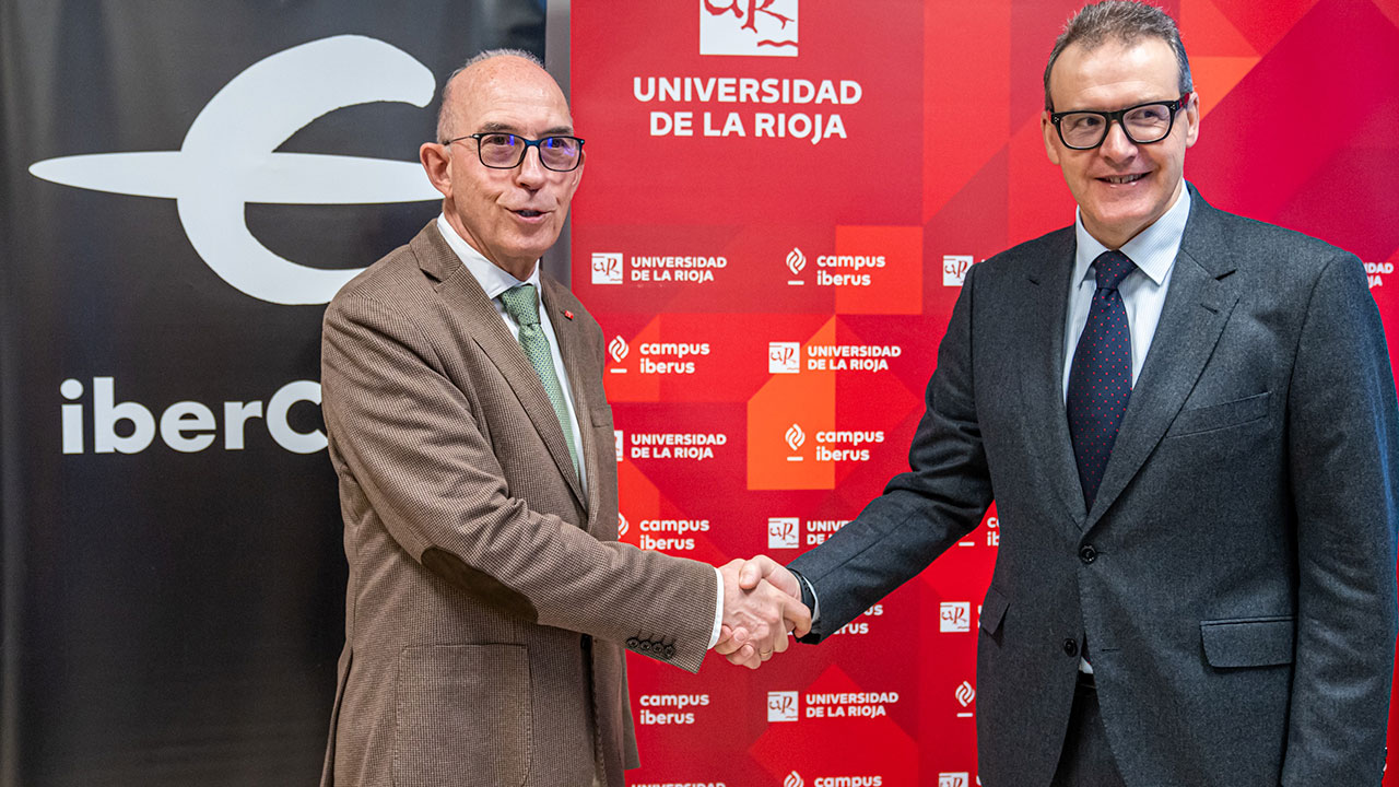
M 582 178 L 527 55 L 443 90 L 422 167 L 442 216 L 326 311 L 322 385 L 350 563 L 323 787 L 621 787 L 624 647 L 697 671 L 810 616 L 771 585 L 617 539 L 603 333 L 540 277 Z

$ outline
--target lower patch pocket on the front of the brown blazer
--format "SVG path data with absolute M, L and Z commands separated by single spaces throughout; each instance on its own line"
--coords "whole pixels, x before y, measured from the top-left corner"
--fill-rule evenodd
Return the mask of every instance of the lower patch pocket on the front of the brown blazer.
M 406 647 L 395 695 L 397 787 L 525 784 L 534 738 L 525 646 Z

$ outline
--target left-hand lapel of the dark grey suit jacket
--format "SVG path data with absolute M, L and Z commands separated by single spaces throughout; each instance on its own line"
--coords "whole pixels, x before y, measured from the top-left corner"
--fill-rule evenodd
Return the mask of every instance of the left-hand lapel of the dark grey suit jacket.
M 1038 454 L 1055 497 L 1080 528 L 1087 511 L 1079 465 L 1073 458 L 1069 422 L 1063 412 L 1063 322 L 1069 311 L 1069 277 L 1073 274 L 1073 228 L 1049 239 L 1044 259 L 1027 273 L 1025 336 L 1021 342 L 1020 391 L 1025 402 L 1027 434 Z

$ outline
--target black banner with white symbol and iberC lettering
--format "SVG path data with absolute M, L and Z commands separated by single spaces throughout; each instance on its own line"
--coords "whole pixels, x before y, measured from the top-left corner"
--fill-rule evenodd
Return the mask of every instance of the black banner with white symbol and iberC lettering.
M 0 0 L 0 786 L 315 783 L 323 304 L 492 46 L 543 0 Z

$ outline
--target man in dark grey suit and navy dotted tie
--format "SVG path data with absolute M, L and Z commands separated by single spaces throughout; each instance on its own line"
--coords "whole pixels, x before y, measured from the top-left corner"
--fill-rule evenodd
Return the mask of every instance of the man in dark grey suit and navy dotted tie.
M 1379 784 L 1399 415 L 1360 262 L 1186 185 L 1199 98 L 1154 7 L 1069 22 L 1042 126 L 1074 225 L 968 272 L 911 471 L 800 588 L 744 580 L 800 590 L 818 641 L 995 499 L 983 784 Z

